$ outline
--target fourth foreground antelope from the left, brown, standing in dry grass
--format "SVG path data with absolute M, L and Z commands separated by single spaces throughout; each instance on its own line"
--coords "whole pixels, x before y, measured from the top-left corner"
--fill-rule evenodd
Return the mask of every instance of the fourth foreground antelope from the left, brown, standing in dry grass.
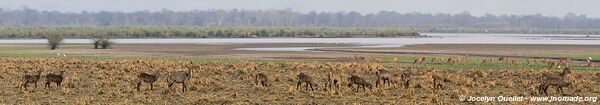
M 169 89 L 173 86 L 174 83 L 181 83 L 182 92 L 185 92 L 185 88 L 186 88 L 186 83 L 187 81 L 190 81 L 190 79 L 192 78 L 192 70 L 188 69 L 188 71 L 175 71 L 175 72 L 169 72 L 168 76 L 167 76 L 167 82 L 169 83 Z

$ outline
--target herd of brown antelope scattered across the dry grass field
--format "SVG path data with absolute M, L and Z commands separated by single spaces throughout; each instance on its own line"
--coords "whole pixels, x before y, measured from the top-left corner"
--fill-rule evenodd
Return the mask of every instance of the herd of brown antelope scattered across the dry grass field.
M 467 61 L 467 57 L 468 56 L 454 56 L 454 57 L 450 57 L 447 59 L 446 63 L 448 64 L 459 64 L 459 63 L 463 63 Z M 356 59 L 368 59 L 366 57 L 357 57 Z M 425 62 L 426 57 L 416 57 L 413 64 L 421 64 L 423 62 Z M 376 62 L 381 62 L 381 59 L 374 59 L 374 61 Z M 397 61 L 397 59 L 396 59 Z M 431 63 L 435 64 L 437 62 L 442 62 L 443 59 L 440 57 L 432 57 L 431 58 Z M 494 58 L 485 58 L 482 60 L 481 65 L 490 65 L 492 64 L 494 61 L 499 61 L 499 62 L 504 62 L 507 64 L 512 64 L 512 65 L 517 65 L 517 60 L 514 58 L 506 58 L 506 57 L 500 57 L 498 59 L 494 59 Z M 558 67 L 560 68 L 562 66 L 562 73 L 560 74 L 556 74 L 556 75 L 547 75 L 544 76 L 544 79 L 542 79 L 540 81 L 540 85 L 537 87 L 538 92 L 540 94 L 546 94 L 547 95 L 547 90 L 548 87 L 550 86 L 554 86 L 557 88 L 557 91 L 559 93 L 562 94 L 562 88 L 563 87 L 568 87 L 570 85 L 572 85 L 571 82 L 566 81 L 567 79 L 567 75 L 569 75 L 571 73 L 570 71 L 570 65 L 571 65 L 571 59 L 560 59 L 558 61 L 553 61 L 550 59 L 535 59 L 535 58 L 530 58 L 527 60 L 527 63 L 525 65 L 533 65 L 536 64 L 537 62 L 542 62 L 543 64 L 548 65 L 549 67 Z M 191 63 L 191 62 L 190 62 Z M 193 65 L 194 67 L 197 67 L 196 65 Z M 591 59 L 587 60 L 587 66 L 588 67 L 593 67 L 594 64 L 592 63 Z M 45 75 L 45 79 L 46 79 L 46 83 L 45 83 L 45 87 L 49 88 L 51 83 L 56 83 L 57 87 L 61 86 L 61 82 L 63 81 L 63 79 L 65 79 L 65 71 L 59 71 L 59 72 L 54 72 L 54 73 L 48 73 Z M 408 72 L 408 71 L 391 71 L 391 70 L 387 70 L 386 68 L 379 68 L 377 69 L 377 71 L 373 74 L 374 76 L 376 76 L 375 81 L 375 85 L 372 85 L 367 79 L 365 79 L 363 76 L 365 75 L 357 75 L 357 74 L 351 74 L 348 77 L 344 77 L 344 74 L 339 73 L 339 72 L 334 72 L 333 70 L 328 72 L 327 74 L 325 74 L 325 85 L 323 90 L 334 90 L 337 89 L 339 90 L 342 82 L 347 83 L 346 85 L 348 87 L 352 87 L 354 85 L 357 86 L 356 88 L 356 92 L 359 92 L 359 90 L 362 88 L 363 91 L 367 91 L 367 88 L 369 90 L 372 90 L 373 87 L 379 87 L 379 86 L 385 86 L 386 84 L 389 85 L 401 85 L 404 88 L 409 88 L 410 86 L 410 82 L 411 82 L 411 75 L 412 73 Z M 33 84 L 35 87 L 37 88 L 37 82 L 40 81 L 40 79 L 42 78 L 42 71 L 39 70 L 37 72 L 35 72 L 35 74 L 26 74 L 23 75 L 22 77 L 22 86 L 21 88 L 24 88 L 27 91 L 27 85 L 28 84 Z M 137 75 L 137 84 L 135 86 L 137 91 L 141 91 L 141 87 L 142 84 L 147 84 L 150 86 L 150 90 L 154 90 L 154 86 L 153 84 L 159 80 L 160 78 L 160 73 L 158 72 L 153 72 L 153 73 L 147 73 L 147 72 L 141 72 Z M 175 84 L 175 83 L 179 83 L 182 85 L 182 92 L 186 91 L 186 87 L 187 87 L 187 83 L 188 81 L 190 81 L 190 79 L 192 78 L 192 69 L 190 69 L 188 67 L 187 71 L 183 70 L 183 71 L 173 71 L 173 72 L 168 72 L 166 73 L 166 81 L 168 83 L 168 87 L 169 89 Z M 301 87 L 303 87 L 303 85 L 306 86 L 306 90 L 311 90 L 311 91 L 315 91 L 315 90 L 319 90 L 319 83 L 318 81 L 316 81 L 316 78 L 313 78 L 313 76 L 309 75 L 309 73 L 306 72 L 302 72 L 297 74 L 297 84 L 296 84 L 296 89 L 297 90 L 301 90 Z M 433 91 L 437 91 L 437 90 L 444 90 L 443 86 L 445 82 L 448 82 L 449 79 L 446 78 L 443 74 L 433 74 L 431 75 L 431 84 L 432 84 L 432 89 Z M 269 80 L 269 73 L 256 73 L 253 76 L 253 82 L 255 84 L 255 86 L 258 87 L 265 87 L 268 88 L 270 86 L 272 86 L 272 80 Z

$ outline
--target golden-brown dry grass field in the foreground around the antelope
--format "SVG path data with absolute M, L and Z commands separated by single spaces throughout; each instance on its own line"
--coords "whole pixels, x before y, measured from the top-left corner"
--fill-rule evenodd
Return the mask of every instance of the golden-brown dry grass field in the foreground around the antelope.
M 192 62 L 163 60 L 80 60 L 73 58 L 0 58 L 0 103 L 5 104 L 481 104 L 461 102 L 460 96 L 543 96 L 537 86 L 544 75 L 560 70 L 441 70 L 368 62 Z M 347 78 L 358 75 L 375 85 L 378 69 L 410 73 L 410 85 L 373 87 L 356 92 Z M 23 75 L 42 70 L 42 79 L 29 91 L 20 88 Z M 170 71 L 192 70 L 186 92 L 181 84 L 168 88 Z M 65 71 L 61 87 L 44 89 L 45 75 Z M 327 73 L 339 72 L 340 90 L 325 91 Z M 161 74 L 150 90 L 135 89 L 142 72 Z M 318 84 L 316 91 L 296 89 L 297 75 L 306 73 Z M 253 77 L 265 73 L 272 86 L 260 87 Z M 443 89 L 433 90 L 432 76 L 445 79 Z M 573 72 L 565 96 L 599 96 L 600 74 Z M 560 96 L 554 87 L 549 94 Z M 505 102 L 504 104 L 556 104 Z M 564 104 L 593 104 L 565 102 Z

